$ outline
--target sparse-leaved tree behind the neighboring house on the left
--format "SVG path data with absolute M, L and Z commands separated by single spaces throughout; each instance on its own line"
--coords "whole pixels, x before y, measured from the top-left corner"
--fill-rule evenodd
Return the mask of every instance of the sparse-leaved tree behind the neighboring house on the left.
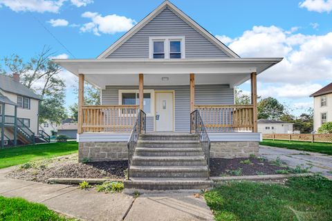
M 64 80 L 59 77 L 61 67 L 50 61 L 53 55 L 54 52 L 44 46 L 41 52 L 27 62 L 15 54 L 3 59 L 7 70 L 2 72 L 5 75 L 18 73 L 21 84 L 34 90 L 42 98 L 39 106 L 41 122 L 46 119 L 61 122 L 66 116 L 64 108 L 66 88 Z

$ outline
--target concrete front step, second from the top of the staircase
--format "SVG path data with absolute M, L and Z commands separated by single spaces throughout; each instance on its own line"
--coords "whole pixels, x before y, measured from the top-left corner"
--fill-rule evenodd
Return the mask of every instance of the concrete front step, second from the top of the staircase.
M 199 140 L 138 140 L 137 146 L 152 148 L 179 148 L 179 147 L 198 147 Z

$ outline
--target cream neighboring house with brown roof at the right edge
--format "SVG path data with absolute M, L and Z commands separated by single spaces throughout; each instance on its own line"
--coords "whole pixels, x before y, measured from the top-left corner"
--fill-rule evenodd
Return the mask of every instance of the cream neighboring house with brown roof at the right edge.
M 313 97 L 313 131 L 332 122 L 332 83 L 310 95 Z

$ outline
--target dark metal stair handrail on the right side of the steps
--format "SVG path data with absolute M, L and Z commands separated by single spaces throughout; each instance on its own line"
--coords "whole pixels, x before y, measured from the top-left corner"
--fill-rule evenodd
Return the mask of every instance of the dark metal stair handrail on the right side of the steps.
M 210 148 L 211 142 L 204 126 L 203 119 L 199 110 L 195 110 L 190 113 L 190 133 L 194 133 L 199 137 L 199 141 L 202 144 L 202 149 L 206 163 L 208 164 L 209 174 L 210 174 Z

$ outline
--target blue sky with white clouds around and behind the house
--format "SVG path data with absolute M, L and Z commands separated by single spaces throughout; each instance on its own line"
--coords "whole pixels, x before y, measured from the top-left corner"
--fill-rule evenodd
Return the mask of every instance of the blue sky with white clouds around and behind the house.
M 162 2 L 0 0 L 0 57 L 17 53 L 28 59 L 44 45 L 59 57 L 97 57 Z M 295 114 L 312 106 L 308 95 L 332 81 L 332 0 L 172 3 L 241 57 L 285 57 L 259 75 L 258 94 L 277 97 Z M 76 100 L 75 77 L 62 76 L 68 106 Z M 247 93 L 250 85 L 240 88 Z

